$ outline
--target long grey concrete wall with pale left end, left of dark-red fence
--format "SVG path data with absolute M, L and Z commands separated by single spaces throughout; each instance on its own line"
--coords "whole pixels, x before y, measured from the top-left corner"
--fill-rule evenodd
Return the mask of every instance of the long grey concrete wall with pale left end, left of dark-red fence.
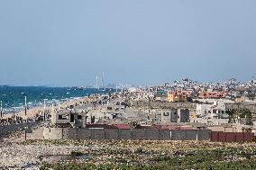
M 211 130 L 45 128 L 44 139 L 209 140 Z

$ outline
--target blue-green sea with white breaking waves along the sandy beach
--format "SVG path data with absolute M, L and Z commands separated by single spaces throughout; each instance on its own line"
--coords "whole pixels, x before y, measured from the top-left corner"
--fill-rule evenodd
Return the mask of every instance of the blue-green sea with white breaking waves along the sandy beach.
M 25 96 L 28 107 L 42 106 L 46 104 L 66 102 L 85 97 L 90 94 L 105 94 L 112 92 L 98 90 L 96 88 L 77 87 L 48 87 L 48 86 L 0 86 L 0 100 L 5 112 L 18 112 L 23 110 Z

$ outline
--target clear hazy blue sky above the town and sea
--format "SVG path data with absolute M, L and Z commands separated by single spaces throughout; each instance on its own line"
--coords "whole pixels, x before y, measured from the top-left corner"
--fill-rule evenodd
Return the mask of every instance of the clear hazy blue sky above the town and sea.
M 255 0 L 0 1 L 0 85 L 256 76 Z

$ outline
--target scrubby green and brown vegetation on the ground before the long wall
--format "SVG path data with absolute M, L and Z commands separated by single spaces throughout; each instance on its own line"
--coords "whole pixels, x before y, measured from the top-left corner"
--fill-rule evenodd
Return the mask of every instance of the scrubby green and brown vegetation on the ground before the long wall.
M 176 170 L 256 169 L 254 144 L 224 144 L 191 141 L 80 141 L 90 151 L 84 161 L 46 164 L 41 170 Z M 76 143 L 79 145 L 79 143 Z M 79 145 L 81 146 L 81 145 Z M 72 155 L 82 155 L 72 152 Z

